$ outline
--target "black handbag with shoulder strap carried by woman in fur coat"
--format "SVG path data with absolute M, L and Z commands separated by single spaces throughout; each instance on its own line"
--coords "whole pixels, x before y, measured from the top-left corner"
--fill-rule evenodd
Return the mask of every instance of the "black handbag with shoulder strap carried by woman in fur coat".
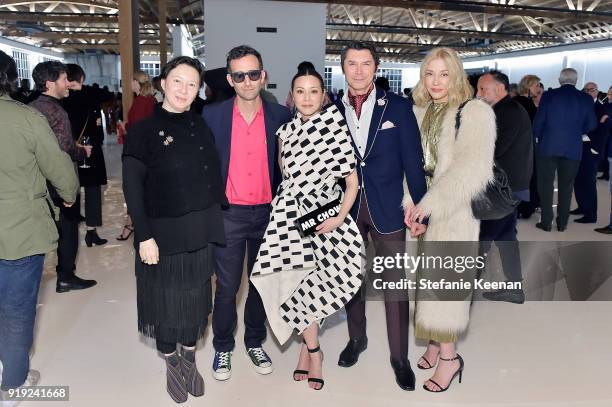
M 469 100 L 459 105 L 455 116 L 455 140 L 459 136 L 461 126 L 461 111 Z M 479 220 L 495 220 L 510 215 L 521 201 L 516 199 L 508 183 L 506 172 L 493 162 L 493 180 L 477 198 L 472 200 L 472 212 Z

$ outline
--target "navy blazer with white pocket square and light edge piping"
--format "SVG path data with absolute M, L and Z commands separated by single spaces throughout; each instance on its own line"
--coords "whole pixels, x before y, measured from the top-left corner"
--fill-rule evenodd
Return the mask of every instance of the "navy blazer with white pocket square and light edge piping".
M 351 216 L 357 219 L 359 211 L 362 210 L 360 202 L 363 193 L 376 230 L 379 233 L 393 233 L 406 228 L 402 208 L 404 177 L 415 205 L 427 192 L 423 149 L 412 104 L 407 99 L 386 93 L 378 87 L 376 100 L 363 157 L 353 140 L 357 156 L 359 194 L 351 208 Z M 346 116 L 341 99 L 336 101 L 336 105 Z M 393 126 L 381 129 L 387 121 L 393 123 Z

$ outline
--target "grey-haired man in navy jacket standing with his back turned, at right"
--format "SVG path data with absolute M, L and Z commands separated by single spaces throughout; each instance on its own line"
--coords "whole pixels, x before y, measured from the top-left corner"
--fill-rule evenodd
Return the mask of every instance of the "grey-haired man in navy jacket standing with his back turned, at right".
M 536 227 L 550 232 L 553 220 L 553 188 L 557 175 L 557 230 L 567 228 L 572 187 L 583 150 L 583 136 L 595 129 L 597 118 L 591 97 L 576 89 L 578 73 L 565 68 L 559 75 L 560 88 L 542 95 L 535 119 L 536 170 L 542 219 Z

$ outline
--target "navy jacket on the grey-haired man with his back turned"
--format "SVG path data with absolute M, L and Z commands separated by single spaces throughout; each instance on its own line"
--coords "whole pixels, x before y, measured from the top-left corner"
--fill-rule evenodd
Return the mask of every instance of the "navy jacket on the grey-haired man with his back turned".
M 593 98 L 573 85 L 562 85 L 542 95 L 533 120 L 536 151 L 545 157 L 580 161 L 582 135 L 597 127 Z

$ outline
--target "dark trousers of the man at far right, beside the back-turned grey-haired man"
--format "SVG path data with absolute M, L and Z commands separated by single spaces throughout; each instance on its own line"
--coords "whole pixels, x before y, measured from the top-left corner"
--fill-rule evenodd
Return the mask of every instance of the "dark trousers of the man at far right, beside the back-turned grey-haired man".
M 590 220 L 597 220 L 597 166 L 599 155 L 591 152 L 591 143 L 583 143 L 582 160 L 574 181 L 578 209 Z

